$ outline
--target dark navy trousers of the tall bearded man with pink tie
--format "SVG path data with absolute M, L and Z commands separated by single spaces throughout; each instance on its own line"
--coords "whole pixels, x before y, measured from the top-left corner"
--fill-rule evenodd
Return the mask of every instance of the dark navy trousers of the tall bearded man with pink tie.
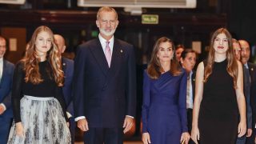
M 122 144 L 122 128 L 94 128 L 84 133 L 85 144 Z

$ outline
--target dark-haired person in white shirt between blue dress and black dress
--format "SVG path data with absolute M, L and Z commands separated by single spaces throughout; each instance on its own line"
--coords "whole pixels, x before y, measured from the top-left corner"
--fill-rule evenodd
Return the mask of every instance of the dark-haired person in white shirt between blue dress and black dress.
M 194 66 L 196 63 L 196 53 L 192 49 L 186 49 L 182 51 L 180 62 L 182 67 L 187 72 L 186 82 L 186 115 L 187 115 L 187 127 L 191 134 L 192 129 L 192 114 L 193 114 L 193 103 L 194 103 L 194 90 L 195 90 L 195 71 Z M 190 139 L 190 144 L 194 143 Z

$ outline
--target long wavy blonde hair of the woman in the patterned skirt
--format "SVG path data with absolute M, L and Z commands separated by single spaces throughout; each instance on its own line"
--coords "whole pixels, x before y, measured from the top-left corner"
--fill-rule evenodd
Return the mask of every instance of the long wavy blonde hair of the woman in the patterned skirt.
M 41 74 L 39 73 L 38 66 L 40 58 L 38 57 L 38 54 L 35 50 L 36 38 L 38 34 L 42 31 L 50 34 L 51 47 L 50 50 L 47 52 L 46 61 L 50 63 L 50 69 L 53 72 L 53 74 L 51 75 L 54 76 L 54 81 L 57 83 L 58 86 L 63 86 L 64 73 L 62 71 L 61 58 L 58 55 L 58 47 L 54 43 L 54 34 L 52 30 L 50 30 L 50 28 L 47 26 L 39 26 L 36 30 L 34 30 L 32 38 L 30 39 L 30 42 L 28 44 L 26 54 L 21 60 L 26 74 L 25 81 L 31 82 L 33 84 L 39 84 L 40 82 L 43 82 Z

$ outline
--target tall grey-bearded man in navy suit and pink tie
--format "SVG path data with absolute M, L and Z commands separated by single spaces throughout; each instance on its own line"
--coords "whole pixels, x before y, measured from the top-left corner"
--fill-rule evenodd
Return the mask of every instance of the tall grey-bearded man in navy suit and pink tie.
M 80 46 L 74 59 L 74 114 L 86 144 L 122 144 L 136 110 L 134 47 L 114 38 L 118 14 L 98 10 L 98 38 Z

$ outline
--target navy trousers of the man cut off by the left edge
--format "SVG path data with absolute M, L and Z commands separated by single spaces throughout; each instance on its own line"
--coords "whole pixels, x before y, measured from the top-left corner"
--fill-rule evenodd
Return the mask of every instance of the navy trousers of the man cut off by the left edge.
M 10 132 L 12 118 L 0 118 L 0 144 L 6 144 Z

